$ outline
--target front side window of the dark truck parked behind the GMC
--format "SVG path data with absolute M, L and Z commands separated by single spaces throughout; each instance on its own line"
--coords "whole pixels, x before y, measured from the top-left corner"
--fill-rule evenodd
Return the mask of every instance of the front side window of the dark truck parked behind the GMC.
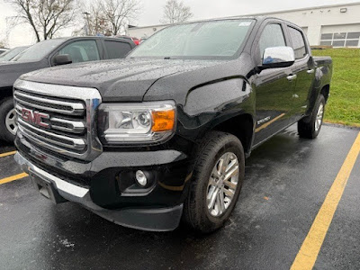
M 75 41 L 58 51 L 58 55 L 70 55 L 73 63 L 100 60 L 95 40 Z

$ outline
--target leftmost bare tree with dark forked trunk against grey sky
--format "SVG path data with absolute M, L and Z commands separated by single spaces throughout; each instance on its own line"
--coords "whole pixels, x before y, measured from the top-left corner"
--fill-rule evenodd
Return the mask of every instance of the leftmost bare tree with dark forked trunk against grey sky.
M 76 0 L 8 0 L 18 12 L 16 23 L 29 23 L 36 39 L 48 40 L 71 25 L 78 12 Z M 19 21 L 20 20 L 20 21 Z

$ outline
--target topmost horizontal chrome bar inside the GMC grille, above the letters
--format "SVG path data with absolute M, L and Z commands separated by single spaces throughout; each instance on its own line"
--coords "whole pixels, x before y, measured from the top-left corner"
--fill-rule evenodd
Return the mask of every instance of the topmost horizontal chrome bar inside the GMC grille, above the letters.
M 32 102 L 45 103 L 45 105 L 30 103 L 30 102 L 24 100 L 24 98 L 27 100 L 31 100 Z M 19 103 L 23 103 L 24 105 L 28 105 L 28 106 L 31 106 L 33 108 L 40 109 L 40 110 L 46 110 L 49 112 L 58 112 L 58 113 L 69 114 L 69 115 L 83 115 L 85 112 L 85 106 L 83 103 L 73 103 L 73 102 L 64 102 L 61 100 L 51 100 L 51 99 L 47 99 L 47 98 L 30 95 L 30 94 L 24 94 L 17 90 L 14 91 L 14 99 L 15 99 L 15 101 L 17 101 Z M 53 108 L 53 107 L 51 107 L 51 105 L 68 107 L 71 109 L 70 110 L 61 110 L 61 109 Z

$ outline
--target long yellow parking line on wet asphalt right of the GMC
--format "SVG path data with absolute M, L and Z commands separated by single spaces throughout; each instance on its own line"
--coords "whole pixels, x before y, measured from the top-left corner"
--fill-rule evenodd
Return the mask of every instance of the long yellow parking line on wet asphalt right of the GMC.
M 348 152 L 347 158 L 345 159 L 343 166 L 341 166 L 337 178 L 335 178 L 334 183 L 331 185 L 329 193 L 326 196 L 325 201 L 322 203 L 320 211 L 312 223 L 311 229 L 303 241 L 299 253 L 293 261 L 291 270 L 312 269 L 315 265 L 320 248 L 328 232 L 334 213 L 338 208 L 338 202 L 344 193 L 345 186 L 347 185 L 347 179 L 353 170 L 359 152 L 360 132 L 357 134 L 356 140 Z

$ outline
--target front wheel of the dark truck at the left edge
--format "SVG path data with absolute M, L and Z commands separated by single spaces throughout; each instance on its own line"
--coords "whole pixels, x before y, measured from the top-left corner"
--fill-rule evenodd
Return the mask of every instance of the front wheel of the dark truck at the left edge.
M 14 142 L 17 130 L 17 124 L 14 121 L 15 116 L 13 97 L 7 97 L 0 105 L 0 139 Z

